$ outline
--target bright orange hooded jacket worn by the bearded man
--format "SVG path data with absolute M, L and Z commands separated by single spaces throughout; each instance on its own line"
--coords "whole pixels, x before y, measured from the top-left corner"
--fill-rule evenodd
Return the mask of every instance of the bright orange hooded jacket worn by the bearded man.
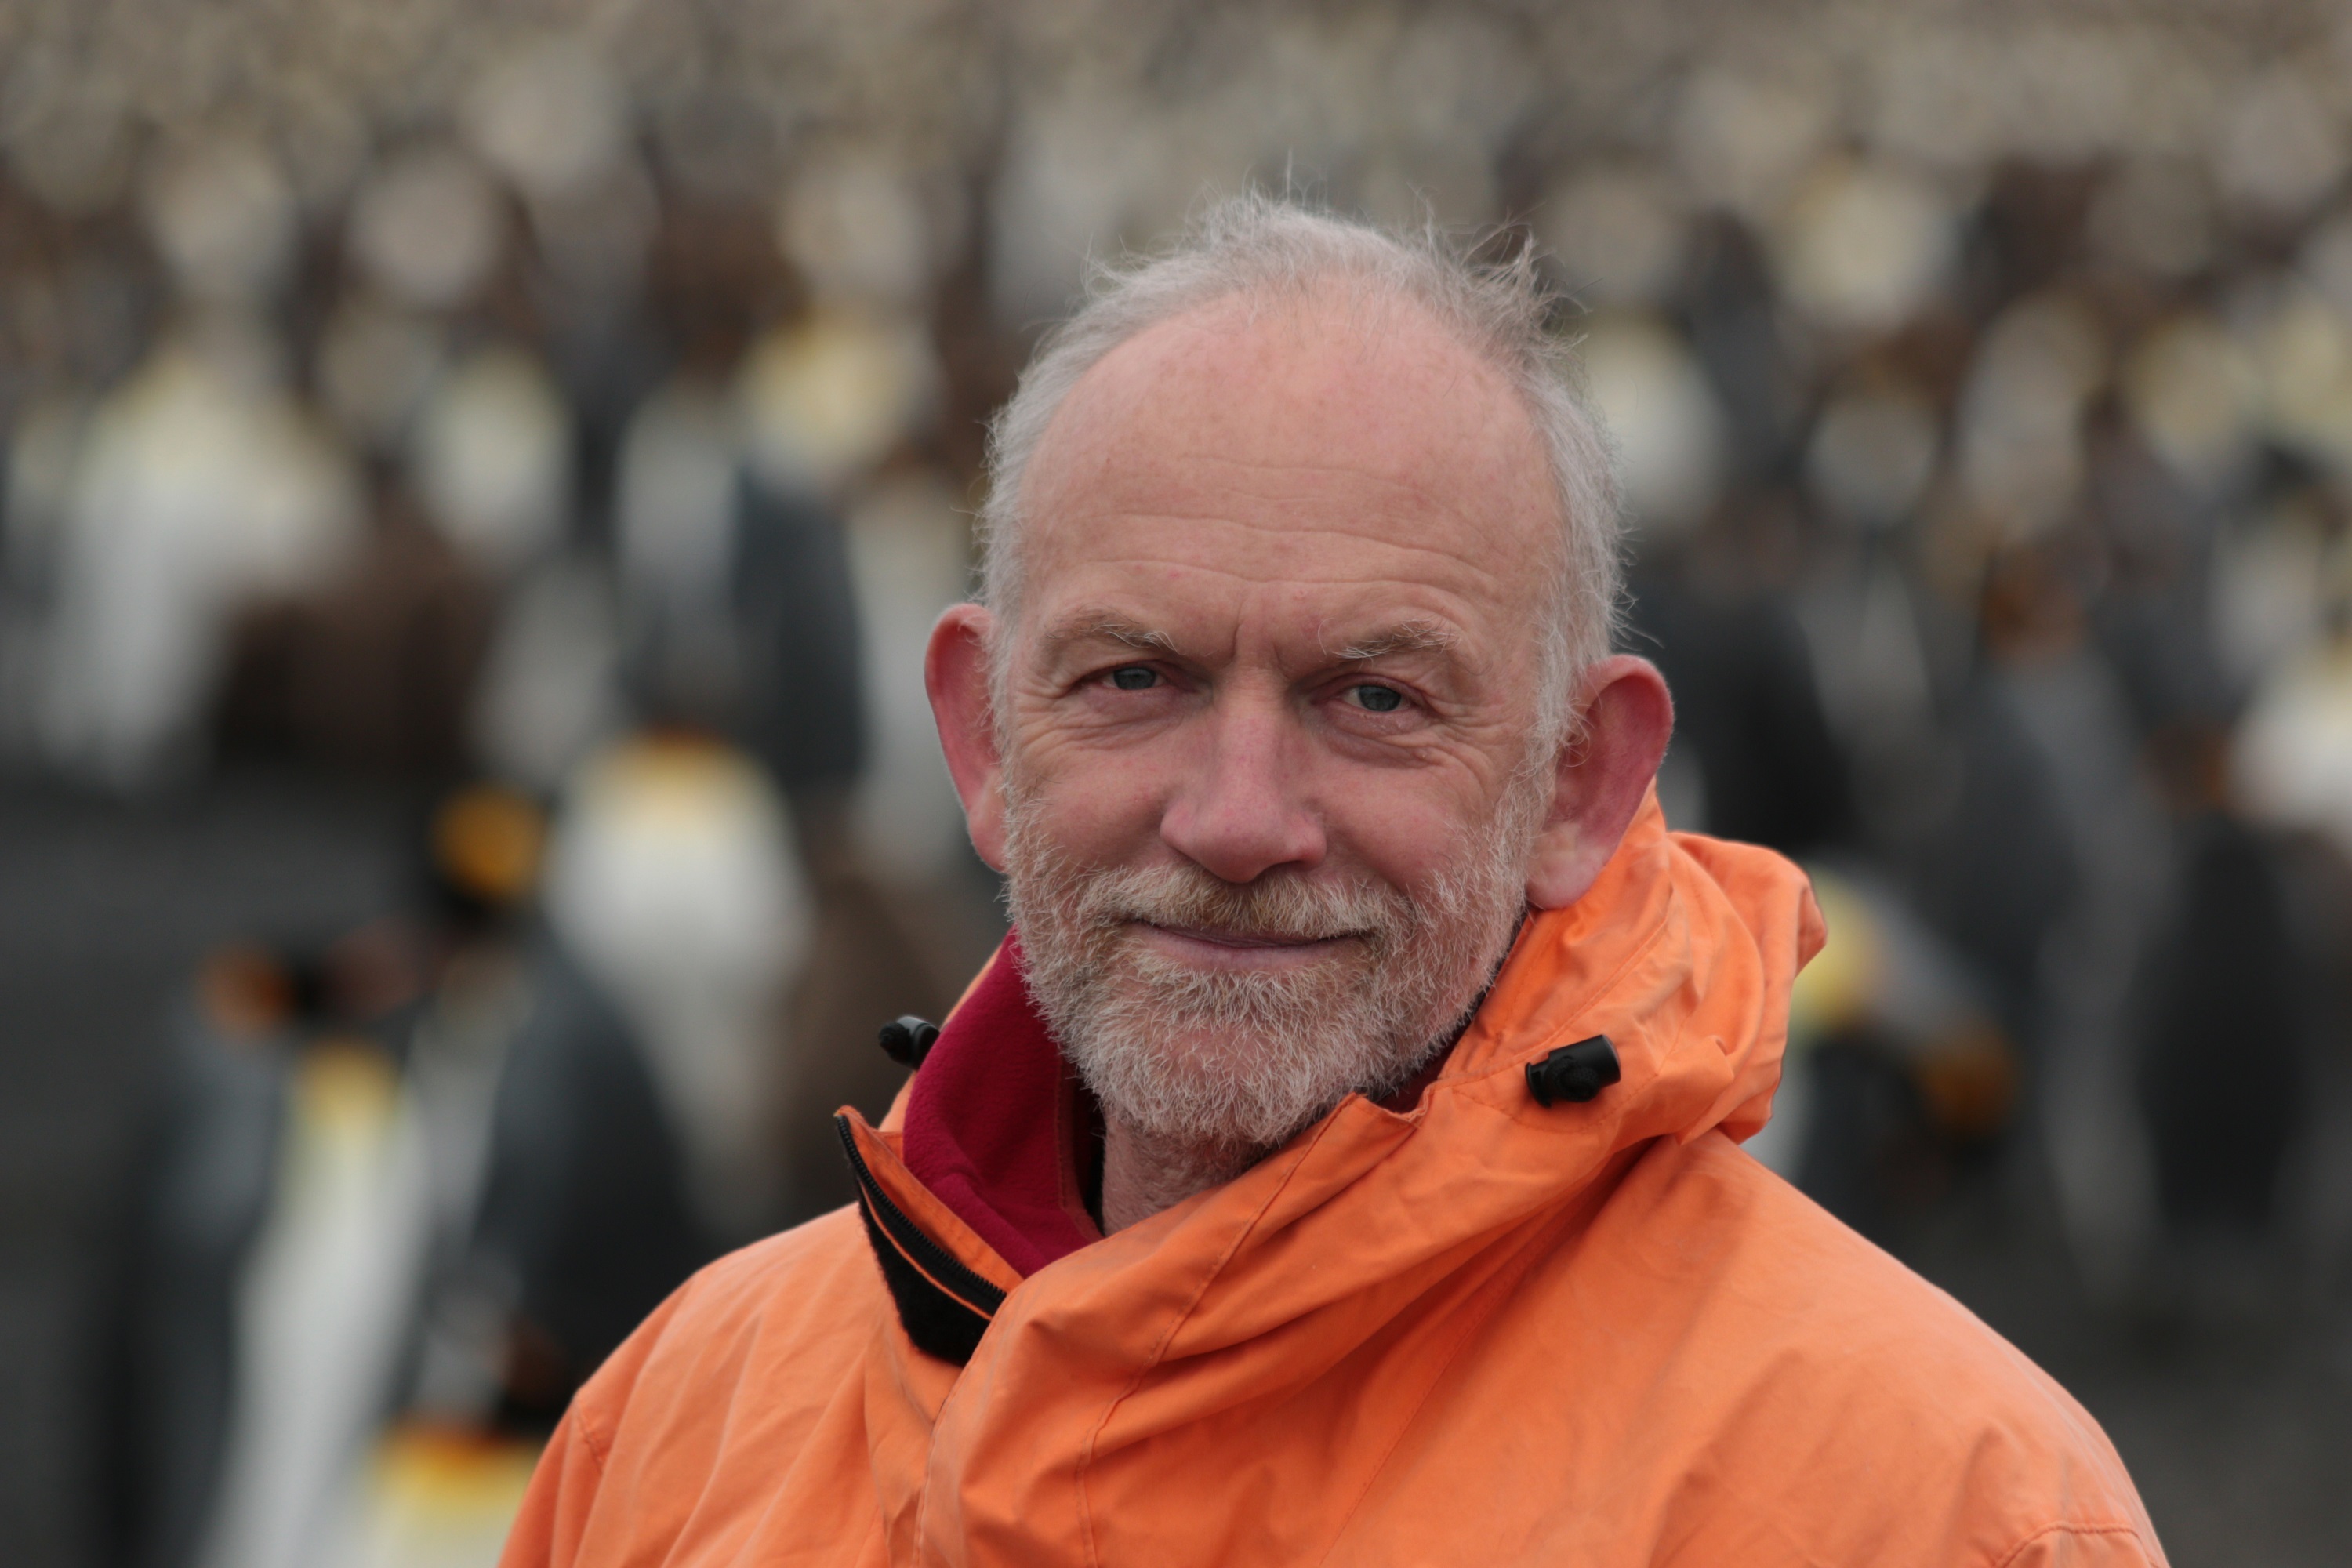
M 581 1389 L 506 1566 L 2161 1563 L 2058 1385 L 1738 1150 L 1818 945 L 1795 867 L 1646 806 L 1411 1110 L 1028 1279 L 851 1119 L 969 1363 L 858 1211 L 746 1248 Z M 1538 1105 L 1588 1034 L 1623 1079 Z

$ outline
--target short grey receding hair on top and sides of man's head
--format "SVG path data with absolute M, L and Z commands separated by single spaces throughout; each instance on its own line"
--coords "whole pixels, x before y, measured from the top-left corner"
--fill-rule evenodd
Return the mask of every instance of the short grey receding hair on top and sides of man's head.
M 1609 656 L 1618 623 L 1623 524 L 1613 449 L 1585 397 L 1573 346 L 1552 331 L 1559 296 L 1543 282 L 1534 247 L 1479 263 L 1435 226 L 1397 235 L 1251 193 L 1216 202 L 1160 254 L 1094 266 L 1084 303 L 1037 346 L 988 430 L 981 602 L 1004 628 L 1018 618 L 1023 480 L 1063 397 L 1089 369 L 1129 339 L 1202 306 L 1232 296 L 1296 299 L 1322 282 L 1369 284 L 1428 310 L 1526 404 L 1550 458 L 1562 522 L 1541 696 L 1545 722 L 1566 724 L 1571 682 Z M 1000 691 L 1009 642 L 1000 635 L 995 651 Z

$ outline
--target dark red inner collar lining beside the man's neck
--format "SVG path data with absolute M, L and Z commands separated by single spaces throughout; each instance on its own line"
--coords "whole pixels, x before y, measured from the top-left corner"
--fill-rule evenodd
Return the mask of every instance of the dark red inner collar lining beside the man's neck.
M 1089 1112 L 1021 978 L 1021 938 L 1007 936 L 922 1058 L 901 1159 L 1004 1262 L 1035 1274 L 1103 1239 L 1077 1185 Z

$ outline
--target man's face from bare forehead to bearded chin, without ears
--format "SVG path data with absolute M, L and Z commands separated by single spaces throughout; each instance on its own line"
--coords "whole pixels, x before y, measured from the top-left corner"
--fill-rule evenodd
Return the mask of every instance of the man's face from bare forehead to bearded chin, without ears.
M 1416 308 L 1211 306 L 1070 393 L 1000 686 L 1030 985 L 1105 1110 L 1265 1145 L 1477 999 L 1552 799 L 1557 501 Z

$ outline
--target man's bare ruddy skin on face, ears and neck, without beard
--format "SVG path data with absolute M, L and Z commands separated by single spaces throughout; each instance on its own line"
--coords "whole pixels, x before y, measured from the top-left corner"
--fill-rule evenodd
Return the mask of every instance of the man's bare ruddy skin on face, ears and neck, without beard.
M 1162 322 L 1077 383 L 1023 501 L 1018 623 L 953 607 L 927 661 L 993 867 L 1007 766 L 1056 853 L 1183 860 L 1228 884 L 1423 889 L 1498 818 L 1543 729 L 1536 628 L 1557 501 L 1510 386 L 1418 308 L 1324 287 Z M 1009 637 L 1004 715 L 993 637 Z M 1536 907 L 1592 884 L 1672 729 L 1642 658 L 1592 665 L 1569 701 L 1581 743 L 1538 759 Z M 1345 959 L 1343 943 L 1216 931 L 1138 940 L 1204 969 Z M 1230 1173 L 1112 1117 L 1103 1222 Z

